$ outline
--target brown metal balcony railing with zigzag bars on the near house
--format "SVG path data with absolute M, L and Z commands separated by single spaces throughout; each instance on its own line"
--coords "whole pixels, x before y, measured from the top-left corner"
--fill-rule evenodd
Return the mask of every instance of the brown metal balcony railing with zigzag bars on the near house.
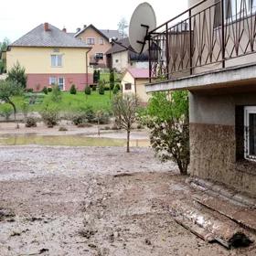
M 204 0 L 156 27 L 149 34 L 150 82 L 239 65 L 236 58 L 255 53 L 255 12 L 256 0 Z

